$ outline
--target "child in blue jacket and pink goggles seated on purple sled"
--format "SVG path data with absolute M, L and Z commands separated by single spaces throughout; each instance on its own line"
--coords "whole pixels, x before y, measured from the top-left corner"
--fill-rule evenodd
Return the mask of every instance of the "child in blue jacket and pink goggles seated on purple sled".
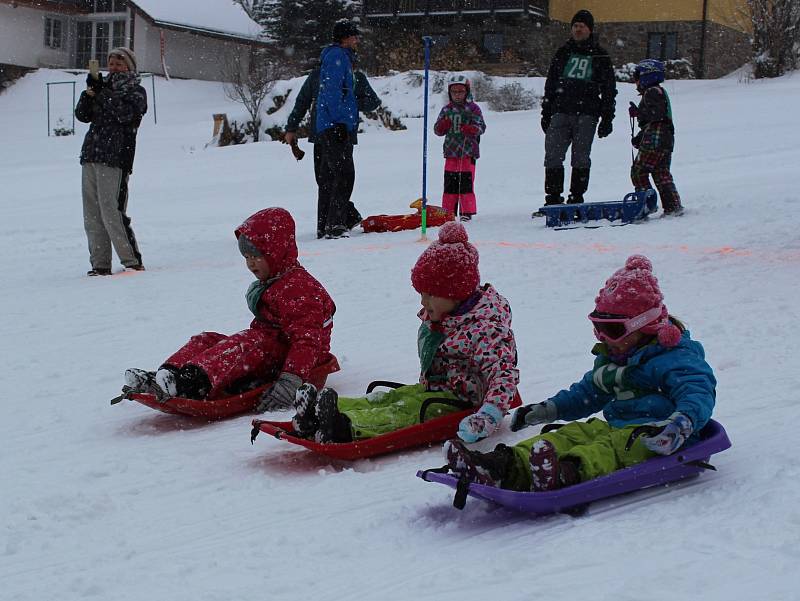
M 716 380 L 703 347 L 663 303 L 652 264 L 641 255 L 608 279 L 589 315 L 599 344 L 583 378 L 536 405 L 519 408 L 512 430 L 570 421 L 514 447 L 479 453 L 445 443 L 450 468 L 481 484 L 550 491 L 604 476 L 696 439 L 711 417 Z M 643 424 L 645 436 L 634 430 Z

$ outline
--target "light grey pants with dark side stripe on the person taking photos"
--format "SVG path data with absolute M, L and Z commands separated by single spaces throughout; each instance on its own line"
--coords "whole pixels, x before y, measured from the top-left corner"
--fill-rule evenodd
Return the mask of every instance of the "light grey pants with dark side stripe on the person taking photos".
M 131 228 L 128 208 L 128 174 L 119 167 L 84 163 L 81 175 L 83 227 L 89 242 L 93 269 L 111 269 L 111 246 L 125 267 L 142 264 Z

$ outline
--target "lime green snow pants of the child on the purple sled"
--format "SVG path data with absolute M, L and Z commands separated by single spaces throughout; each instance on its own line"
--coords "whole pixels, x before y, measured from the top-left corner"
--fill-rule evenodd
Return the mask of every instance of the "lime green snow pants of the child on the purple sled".
M 503 478 L 503 488 L 531 489 L 530 455 L 538 440 L 551 442 L 559 459 L 578 460 L 581 482 L 656 457 L 656 453 L 644 446 L 641 439 L 637 439 L 629 451 L 625 450 L 634 428 L 636 425 L 613 428 L 601 419 L 591 418 L 586 422 L 570 422 L 558 430 L 523 440 L 512 447 L 515 461 L 509 474 Z

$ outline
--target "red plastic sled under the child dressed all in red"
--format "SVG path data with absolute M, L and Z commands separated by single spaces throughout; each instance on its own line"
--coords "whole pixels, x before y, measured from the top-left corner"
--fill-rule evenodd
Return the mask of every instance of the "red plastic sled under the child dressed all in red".
M 325 386 L 328 375 L 339 371 L 339 362 L 333 355 L 328 356 L 328 360 L 311 370 L 308 382 L 317 388 Z M 187 399 L 183 397 L 171 397 L 160 401 L 154 394 L 128 393 L 117 397 L 137 401 L 142 405 L 147 405 L 151 409 L 171 413 L 174 415 L 188 415 L 190 417 L 200 417 L 209 421 L 225 419 L 242 413 L 252 413 L 256 409 L 258 400 L 262 393 L 272 386 L 272 382 L 263 384 L 247 392 L 234 394 L 231 396 L 220 397 L 217 399 Z M 116 400 L 116 399 L 115 399 Z M 114 403 L 114 401 L 112 401 Z

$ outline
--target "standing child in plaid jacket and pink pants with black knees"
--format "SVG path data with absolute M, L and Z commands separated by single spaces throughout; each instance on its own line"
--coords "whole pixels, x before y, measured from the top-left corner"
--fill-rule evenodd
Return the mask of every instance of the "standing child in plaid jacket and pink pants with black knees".
M 469 79 L 455 75 L 447 84 L 450 100 L 439 112 L 433 132 L 444 136 L 444 193 L 442 206 L 469 221 L 478 212 L 475 199 L 475 162 L 480 157 L 481 134 L 486 123 L 472 102 Z

